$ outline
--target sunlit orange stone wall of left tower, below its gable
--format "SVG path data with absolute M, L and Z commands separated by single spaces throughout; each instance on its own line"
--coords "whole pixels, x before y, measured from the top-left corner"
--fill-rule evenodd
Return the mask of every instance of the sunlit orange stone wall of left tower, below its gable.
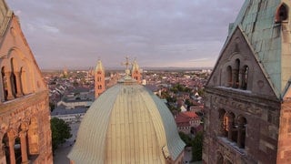
M 52 140 L 50 130 L 50 110 L 48 108 L 48 94 L 46 91 L 27 95 L 0 104 L 0 139 L 9 132 L 14 132 L 14 138 L 19 137 L 21 128 L 27 126 L 27 132 L 35 132 L 28 138 L 27 147 L 33 151 L 36 158 L 34 163 L 53 163 Z M 32 142 L 29 143 L 29 141 Z M 0 153 L 0 159 L 5 158 L 5 152 Z

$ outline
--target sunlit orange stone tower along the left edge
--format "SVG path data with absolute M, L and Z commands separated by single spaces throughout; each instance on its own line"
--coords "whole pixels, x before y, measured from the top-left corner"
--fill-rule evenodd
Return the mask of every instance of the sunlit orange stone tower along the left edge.
M 18 17 L 0 0 L 0 163 L 53 163 L 48 90 Z

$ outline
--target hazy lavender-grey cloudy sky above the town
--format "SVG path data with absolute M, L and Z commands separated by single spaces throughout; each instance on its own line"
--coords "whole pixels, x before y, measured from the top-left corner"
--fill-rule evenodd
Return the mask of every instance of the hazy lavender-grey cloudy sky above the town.
M 244 0 L 5 0 L 42 69 L 214 67 Z

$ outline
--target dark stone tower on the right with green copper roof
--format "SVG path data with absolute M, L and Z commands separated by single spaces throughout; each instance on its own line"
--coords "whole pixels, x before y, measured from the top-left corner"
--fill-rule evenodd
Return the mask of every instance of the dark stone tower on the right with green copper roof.
M 206 84 L 205 163 L 291 161 L 291 2 L 246 0 Z

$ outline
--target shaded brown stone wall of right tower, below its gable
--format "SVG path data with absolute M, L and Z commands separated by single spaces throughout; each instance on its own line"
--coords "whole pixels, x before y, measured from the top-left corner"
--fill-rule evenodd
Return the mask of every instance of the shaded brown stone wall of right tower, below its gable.
M 246 147 L 221 135 L 219 109 L 246 118 Z M 218 154 L 232 163 L 276 163 L 280 102 L 239 90 L 206 87 L 204 161 L 216 163 Z

